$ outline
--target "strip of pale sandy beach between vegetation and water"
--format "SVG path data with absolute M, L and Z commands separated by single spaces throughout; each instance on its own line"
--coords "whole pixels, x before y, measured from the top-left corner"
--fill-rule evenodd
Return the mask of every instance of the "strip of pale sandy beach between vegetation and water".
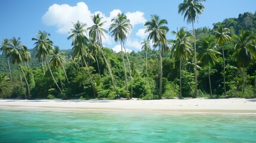
M 256 99 L 172 100 L 0 100 L 3 110 L 116 111 L 161 114 L 231 113 L 256 114 Z

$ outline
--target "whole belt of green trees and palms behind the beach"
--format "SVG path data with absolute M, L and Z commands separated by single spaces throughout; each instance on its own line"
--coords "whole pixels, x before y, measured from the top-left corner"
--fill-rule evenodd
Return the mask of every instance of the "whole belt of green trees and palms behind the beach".
M 191 5 L 186 2 L 190 1 L 180 4 L 178 12 L 193 24 L 204 7 L 194 0 L 189 15 L 186 11 Z M 199 11 L 193 13 L 193 8 Z M 168 22 L 152 15 L 145 23 L 149 37 L 141 42 L 142 51 L 131 53 L 125 49 L 132 29 L 125 14 L 113 19 L 109 28 L 124 49 L 119 53 L 101 43 L 107 32 L 101 27 L 105 21 L 99 14 L 92 20 L 92 27 L 79 21 L 73 25 L 68 37 L 72 49 L 54 46 L 50 34 L 44 31 L 32 38 L 33 49 L 22 45 L 20 38 L 3 39 L 0 97 L 256 97 L 256 13 L 227 18 L 214 23 L 212 29 L 188 31 L 181 27 L 171 32 L 175 39 L 166 38 Z

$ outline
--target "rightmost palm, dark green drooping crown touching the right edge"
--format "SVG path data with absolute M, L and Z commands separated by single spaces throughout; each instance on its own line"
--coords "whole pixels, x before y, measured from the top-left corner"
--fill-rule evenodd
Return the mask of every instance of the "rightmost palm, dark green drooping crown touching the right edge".
M 256 59 L 256 36 L 251 31 L 241 30 L 240 35 L 236 35 L 235 55 L 239 67 L 243 69 L 243 92 L 245 92 L 245 67 L 255 61 Z

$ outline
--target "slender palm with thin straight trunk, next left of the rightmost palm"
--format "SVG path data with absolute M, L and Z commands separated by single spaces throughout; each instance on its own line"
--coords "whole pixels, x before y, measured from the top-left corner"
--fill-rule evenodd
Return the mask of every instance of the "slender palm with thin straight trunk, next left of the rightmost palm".
M 222 48 L 222 56 L 223 56 L 223 80 L 224 80 L 224 94 L 227 95 L 226 92 L 226 64 L 225 64 L 225 54 L 223 45 L 226 42 L 230 41 L 230 30 L 224 27 L 222 24 L 218 25 L 218 29 L 215 31 L 215 38 L 217 39 L 216 43 Z

